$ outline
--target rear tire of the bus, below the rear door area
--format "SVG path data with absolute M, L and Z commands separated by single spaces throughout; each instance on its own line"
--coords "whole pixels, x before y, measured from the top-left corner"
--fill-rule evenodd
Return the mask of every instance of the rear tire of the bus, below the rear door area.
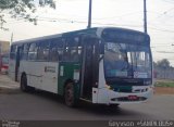
M 22 77 L 21 77 L 21 86 L 20 86 L 20 88 L 24 92 L 29 91 L 29 88 L 27 86 L 27 78 L 26 78 L 25 74 L 23 74 Z

